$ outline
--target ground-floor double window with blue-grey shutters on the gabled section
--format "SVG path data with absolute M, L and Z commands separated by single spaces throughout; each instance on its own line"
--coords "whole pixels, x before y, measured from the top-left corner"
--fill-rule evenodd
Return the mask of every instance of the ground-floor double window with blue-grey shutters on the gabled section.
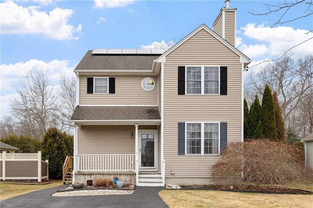
M 226 122 L 178 123 L 179 155 L 219 154 L 226 146 Z

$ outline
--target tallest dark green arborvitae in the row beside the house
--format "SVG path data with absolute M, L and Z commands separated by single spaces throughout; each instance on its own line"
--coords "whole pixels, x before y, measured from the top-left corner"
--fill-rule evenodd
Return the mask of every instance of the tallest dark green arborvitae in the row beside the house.
M 260 121 L 262 123 L 264 138 L 277 142 L 275 107 L 272 92 L 268 84 L 265 86 L 263 93 Z

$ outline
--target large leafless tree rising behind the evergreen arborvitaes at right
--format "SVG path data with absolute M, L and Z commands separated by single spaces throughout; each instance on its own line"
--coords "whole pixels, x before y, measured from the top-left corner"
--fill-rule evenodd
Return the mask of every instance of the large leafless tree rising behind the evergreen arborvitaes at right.
M 279 61 L 268 63 L 259 73 L 250 73 L 245 84 L 247 100 L 253 92 L 254 95 L 262 96 L 266 84 L 277 92 L 286 127 L 294 130 L 296 126 L 307 126 L 308 124 L 300 124 L 301 119 L 297 117 L 298 110 L 303 108 L 302 110 L 307 110 L 301 112 L 302 116 L 305 114 L 305 117 L 312 118 L 310 117 L 312 112 L 304 104 L 313 95 L 313 56 L 307 55 L 293 60 L 291 55 L 286 55 Z M 312 127 L 311 130 L 308 126 L 305 128 L 312 132 Z M 299 129 L 294 132 L 298 132 L 299 136 L 304 136 L 303 131 L 300 134 Z

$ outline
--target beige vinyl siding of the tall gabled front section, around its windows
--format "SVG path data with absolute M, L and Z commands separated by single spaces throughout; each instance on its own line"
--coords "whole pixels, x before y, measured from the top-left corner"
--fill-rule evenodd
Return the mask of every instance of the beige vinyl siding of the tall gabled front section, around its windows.
M 166 57 L 164 64 L 164 159 L 167 178 L 207 178 L 219 156 L 178 155 L 178 122 L 227 122 L 227 142 L 241 141 L 240 57 L 205 30 Z M 178 95 L 178 66 L 227 66 L 227 95 Z M 170 175 L 170 170 L 175 173 Z

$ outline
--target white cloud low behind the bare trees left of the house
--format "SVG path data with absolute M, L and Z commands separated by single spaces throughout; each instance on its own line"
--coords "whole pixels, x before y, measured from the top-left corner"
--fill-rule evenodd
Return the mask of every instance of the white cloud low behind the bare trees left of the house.
M 41 60 L 29 60 L 27 62 L 17 62 L 13 64 L 1 64 L 1 117 L 9 115 L 10 100 L 16 95 L 16 88 L 21 87 L 24 76 L 34 68 L 40 68 L 48 76 L 50 84 L 54 86 L 56 92 L 60 86 L 61 73 L 67 77 L 75 76 L 73 69 L 75 66 L 69 66 L 70 62 L 67 60 L 53 60 L 51 62 L 44 62 Z

